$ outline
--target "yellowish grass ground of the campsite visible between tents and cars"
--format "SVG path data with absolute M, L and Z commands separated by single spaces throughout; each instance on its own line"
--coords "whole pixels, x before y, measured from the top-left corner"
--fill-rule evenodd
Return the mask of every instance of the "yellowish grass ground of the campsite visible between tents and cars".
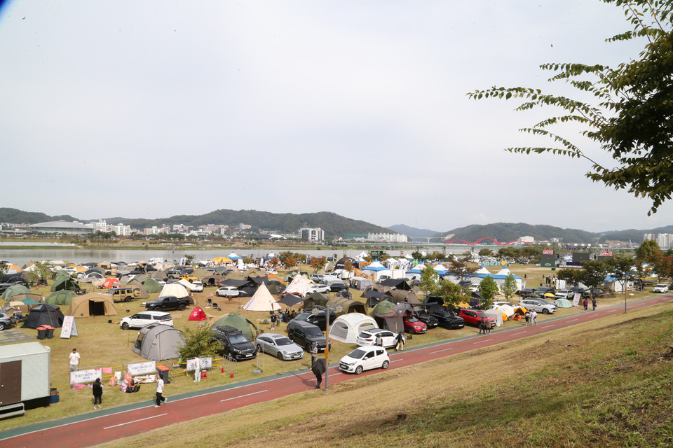
M 308 267 L 306 266 L 301 266 L 300 268 L 308 270 Z M 527 265 L 513 265 L 511 269 L 512 272 L 521 276 L 523 276 L 525 272 L 529 282 L 539 282 L 541 281 L 543 274 L 551 274 L 550 269 L 541 269 L 539 267 Z M 208 309 L 208 295 L 214 291 L 214 287 L 209 287 L 205 288 L 203 293 L 196 293 L 194 295 L 196 304 L 205 309 L 206 313 L 210 316 L 219 318 L 219 316 L 224 316 L 230 312 L 240 312 L 240 314 L 249 318 L 253 322 L 259 318 L 265 318 L 268 316 L 267 313 L 254 313 L 241 309 L 240 307 L 242 307 L 242 305 L 247 302 L 247 298 L 245 297 L 241 297 L 240 299 L 235 298 L 231 301 L 226 300 L 224 297 L 214 297 L 213 300 L 221 305 L 222 311 L 216 311 L 212 308 Z M 48 295 L 48 289 L 44 287 L 40 288 L 40 290 L 36 292 Z M 353 293 L 354 299 L 361 298 L 360 291 L 351 290 L 351 292 Z M 628 300 L 633 300 L 649 294 L 650 293 L 646 292 L 634 293 L 634 295 L 629 295 L 627 298 Z M 156 298 L 157 295 L 158 294 L 156 293 L 152 294 L 148 300 Z M 599 306 L 616 302 L 623 303 L 623 300 L 623 295 L 618 297 L 605 298 L 599 300 Z M 514 301 L 516 302 L 516 300 Z M 60 402 L 49 407 L 31 409 L 27 412 L 26 416 L 22 417 L 21 419 L 2 420 L 0 421 L 0 430 L 13 428 L 18 425 L 24 426 L 40 421 L 90 412 L 93 409 L 93 398 L 90 393 L 90 389 L 85 389 L 83 391 L 69 391 L 68 355 L 73 348 L 76 348 L 82 356 L 82 368 L 113 367 L 114 370 L 122 370 L 123 364 L 144 360 L 144 358 L 137 356 L 131 350 L 132 344 L 135 342 L 137 330 L 121 330 L 118 325 L 118 321 L 121 317 L 144 309 L 144 307 L 141 305 L 142 302 L 142 300 L 135 300 L 134 302 L 130 303 L 116 304 L 115 307 L 119 313 L 118 316 L 95 316 L 90 318 L 76 319 L 79 336 L 72 337 L 72 339 L 60 339 L 60 329 L 55 331 L 53 339 L 44 339 L 42 343 L 50 346 L 51 349 L 51 386 L 58 389 L 60 394 Z M 171 313 L 174 318 L 175 328 L 196 329 L 199 327 L 198 322 L 187 320 L 187 318 L 189 318 L 190 310 L 191 308 L 188 308 L 185 311 L 175 311 Z M 67 307 L 62 307 L 62 311 L 67 311 Z M 555 316 L 564 316 L 566 314 L 576 312 L 584 311 L 580 311 L 580 309 L 577 308 L 559 309 Z M 539 314 L 538 319 L 543 321 L 546 318 L 554 318 L 555 316 L 544 316 L 543 314 Z M 109 323 L 109 320 L 111 320 L 112 323 Z M 523 323 L 515 321 L 505 322 L 505 328 L 511 328 L 512 325 L 523 325 Z M 268 325 L 261 324 L 258 326 L 260 330 L 268 331 Z M 20 328 L 18 330 L 32 337 L 36 336 L 36 330 Z M 497 329 L 494 331 L 497 331 Z M 285 324 L 280 325 L 280 328 L 277 327 L 276 332 L 285 332 Z M 475 333 L 477 333 L 477 328 L 473 327 L 466 327 L 462 330 L 444 330 L 442 328 L 435 328 L 430 330 L 425 335 L 414 336 L 413 339 L 408 341 L 407 346 L 429 344 L 431 342 L 464 337 L 467 335 L 473 335 Z M 330 362 L 337 362 L 341 356 L 344 356 L 353 348 L 353 344 L 341 344 L 337 341 L 332 341 L 332 350 L 329 353 Z M 214 360 L 214 363 L 217 363 L 217 360 Z M 308 364 L 308 354 L 305 355 L 304 360 L 297 361 L 280 361 L 276 358 L 273 358 L 272 356 L 260 354 L 259 364 L 255 360 L 248 360 L 238 363 L 236 368 L 236 376 L 233 379 L 231 378 L 229 372 L 222 374 L 219 368 L 216 367 L 215 370 L 209 374 L 208 379 L 201 381 L 200 384 L 194 384 L 191 381 L 191 378 L 184 376 L 181 367 L 176 367 L 172 370 L 172 373 L 175 374 L 175 380 L 170 384 L 169 390 L 170 394 L 195 391 L 198 388 L 231 384 L 232 382 L 243 381 L 245 379 L 256 378 L 259 376 L 273 375 L 279 372 L 305 370 L 308 369 Z M 257 367 L 261 368 L 263 372 L 252 372 L 252 370 Z M 121 393 L 121 391 L 118 391 L 118 388 L 106 387 L 104 389 L 103 404 L 106 408 L 114 407 L 116 405 L 123 405 L 129 402 L 151 400 L 153 396 L 154 387 L 151 384 L 141 386 L 140 392 L 133 394 Z

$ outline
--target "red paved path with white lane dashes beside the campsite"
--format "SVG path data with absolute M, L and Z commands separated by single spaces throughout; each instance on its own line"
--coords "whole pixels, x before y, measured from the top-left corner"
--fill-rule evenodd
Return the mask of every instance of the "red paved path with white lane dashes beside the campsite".
M 658 295 L 630 302 L 628 309 L 633 311 L 664 302 L 673 302 L 673 294 Z M 578 314 L 571 314 L 570 316 L 551 318 L 538 323 L 538 325 L 521 325 L 493 332 L 490 335 L 475 335 L 414 347 L 402 352 L 390 353 L 390 368 L 405 367 L 485 346 L 502 344 L 503 342 L 510 342 L 623 313 L 623 311 L 624 305 L 618 304 L 599 308 L 596 311 L 580 311 Z M 360 376 L 379 372 L 381 370 L 369 370 Z M 329 384 L 355 378 L 353 374 L 339 372 L 337 365 L 331 365 L 328 373 Z M 7 430 L 0 434 L 0 448 L 43 448 L 53 446 L 54 440 L 57 440 L 58 446 L 62 447 L 88 447 L 121 437 L 145 433 L 148 430 L 173 423 L 190 421 L 198 417 L 219 414 L 238 407 L 309 391 L 314 386 L 315 377 L 307 370 L 289 372 L 273 378 L 266 377 L 243 381 L 236 385 L 169 396 L 169 402 L 157 408 L 154 407 L 154 402 L 135 403 L 124 407 L 104 409 L 67 419 Z

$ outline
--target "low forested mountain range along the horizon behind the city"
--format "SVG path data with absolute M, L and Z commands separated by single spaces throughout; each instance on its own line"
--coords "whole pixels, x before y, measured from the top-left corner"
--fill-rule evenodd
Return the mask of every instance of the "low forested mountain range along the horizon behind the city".
M 627 229 L 610 230 L 605 232 L 587 232 L 578 229 L 564 229 L 552 225 L 531 225 L 526 223 L 491 223 L 486 225 L 467 225 L 447 232 L 414 228 L 409 225 L 397 224 L 388 228 L 365 221 L 358 221 L 334 214 L 329 211 L 320 211 L 307 214 L 276 214 L 257 210 L 215 210 L 204 215 L 175 215 L 168 218 L 140 219 L 140 218 L 104 218 L 108 224 L 124 223 L 132 228 L 147 228 L 153 225 L 183 224 L 190 226 L 215 224 L 237 226 L 239 223 L 250 224 L 252 230 L 271 230 L 280 233 L 294 233 L 302 227 L 322 228 L 325 237 L 344 237 L 346 234 L 389 233 L 390 231 L 403 233 L 417 241 L 440 242 L 447 239 L 463 239 L 476 241 L 490 237 L 501 242 L 530 236 L 537 241 L 559 238 L 564 243 L 604 243 L 605 241 L 632 241 L 641 243 L 645 233 L 673 233 L 673 225 L 655 229 Z M 0 208 L 0 223 L 36 224 L 46 221 L 93 221 L 74 218 L 69 215 L 48 216 L 39 212 L 22 211 L 18 209 Z

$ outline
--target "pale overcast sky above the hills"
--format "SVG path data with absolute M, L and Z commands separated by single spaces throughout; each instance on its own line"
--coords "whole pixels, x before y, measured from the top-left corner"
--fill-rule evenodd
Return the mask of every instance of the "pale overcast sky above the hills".
M 216 209 L 332 211 L 447 231 L 498 222 L 592 232 L 673 224 L 515 155 L 555 113 L 475 101 L 543 88 L 547 62 L 618 64 L 641 43 L 597 0 L 0 0 L 1 207 L 83 220 Z M 564 128 L 592 158 L 592 142 Z

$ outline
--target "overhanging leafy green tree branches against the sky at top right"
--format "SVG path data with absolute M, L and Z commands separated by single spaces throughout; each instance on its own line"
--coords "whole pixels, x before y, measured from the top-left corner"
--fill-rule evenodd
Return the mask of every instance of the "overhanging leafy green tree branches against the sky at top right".
M 468 93 L 475 99 L 519 99 L 517 111 L 552 106 L 559 113 L 521 129 L 548 137 L 554 146 L 508 148 L 512 153 L 552 153 L 590 162 L 587 178 L 616 190 L 625 189 L 651 201 L 655 213 L 673 193 L 673 2 L 601 0 L 623 8 L 631 29 L 607 41 L 641 39 L 639 58 L 611 67 L 601 64 L 543 64 L 550 82 L 564 81 L 592 94 L 585 102 L 527 87 L 491 87 Z M 579 123 L 583 134 L 608 153 L 613 166 L 603 166 L 554 125 Z

